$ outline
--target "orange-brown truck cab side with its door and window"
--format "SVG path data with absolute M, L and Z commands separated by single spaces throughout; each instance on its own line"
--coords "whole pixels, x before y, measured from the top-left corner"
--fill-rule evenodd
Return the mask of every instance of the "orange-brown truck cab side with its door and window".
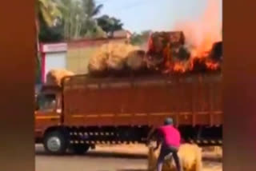
M 57 94 L 40 94 L 35 111 L 35 136 L 42 137 L 44 131 L 61 123 L 61 107 Z

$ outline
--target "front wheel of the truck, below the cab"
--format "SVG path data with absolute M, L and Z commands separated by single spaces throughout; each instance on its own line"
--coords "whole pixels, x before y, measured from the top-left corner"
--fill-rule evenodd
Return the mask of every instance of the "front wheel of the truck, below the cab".
M 49 153 L 62 154 L 66 152 L 68 143 L 62 132 L 54 131 L 46 133 L 43 145 Z

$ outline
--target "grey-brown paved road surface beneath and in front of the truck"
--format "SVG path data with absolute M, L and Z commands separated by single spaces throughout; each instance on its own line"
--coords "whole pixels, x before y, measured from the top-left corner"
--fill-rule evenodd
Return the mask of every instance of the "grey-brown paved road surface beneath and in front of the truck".
M 127 147 L 126 147 L 127 149 Z M 146 153 L 128 147 L 98 147 L 84 156 L 66 154 L 65 156 L 47 155 L 41 145 L 36 146 L 36 171 L 146 171 Z M 204 161 L 203 171 L 222 171 L 219 161 Z

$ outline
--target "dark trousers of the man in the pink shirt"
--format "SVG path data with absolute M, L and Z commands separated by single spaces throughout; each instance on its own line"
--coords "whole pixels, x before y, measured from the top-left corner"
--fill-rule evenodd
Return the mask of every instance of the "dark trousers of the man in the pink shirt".
M 165 157 L 168 156 L 169 154 L 172 154 L 172 157 L 174 157 L 174 162 L 177 171 L 182 171 L 181 161 L 179 160 L 178 157 L 178 148 L 169 145 L 162 145 L 161 147 L 160 154 L 158 157 L 157 171 L 162 171 L 162 165 L 163 162 L 165 161 Z

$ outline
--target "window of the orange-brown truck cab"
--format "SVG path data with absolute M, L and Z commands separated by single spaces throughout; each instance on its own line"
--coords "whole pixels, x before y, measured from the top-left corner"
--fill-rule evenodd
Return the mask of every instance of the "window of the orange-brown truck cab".
M 38 110 L 52 112 L 56 108 L 55 94 L 43 94 L 38 96 Z

